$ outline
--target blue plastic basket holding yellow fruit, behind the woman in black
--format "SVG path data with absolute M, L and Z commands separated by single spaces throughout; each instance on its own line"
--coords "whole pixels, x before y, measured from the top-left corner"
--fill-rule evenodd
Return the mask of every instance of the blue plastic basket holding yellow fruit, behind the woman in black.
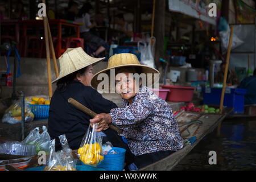
M 49 105 L 30 104 L 30 109 L 34 114 L 34 120 L 47 119 L 49 117 Z

